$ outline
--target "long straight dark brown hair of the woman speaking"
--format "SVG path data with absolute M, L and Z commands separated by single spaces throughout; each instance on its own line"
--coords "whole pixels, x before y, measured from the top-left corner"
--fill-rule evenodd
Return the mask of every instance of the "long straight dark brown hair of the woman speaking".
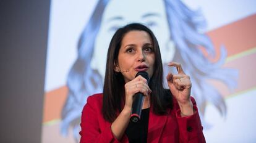
M 153 75 L 150 79 L 149 87 L 152 90 L 150 95 L 150 104 L 153 107 L 153 113 L 158 115 L 166 114 L 166 109 L 172 108 L 172 96 L 169 89 L 163 88 L 163 64 L 161 60 L 160 48 L 158 41 L 153 32 L 140 23 L 131 23 L 125 27 L 119 28 L 114 33 L 113 38 L 109 44 L 105 81 L 103 86 L 103 117 L 109 122 L 116 119 L 116 113 L 121 112 L 124 104 L 124 77 L 121 73 L 114 71 L 114 62 L 117 62 L 119 49 L 121 47 L 122 38 L 129 31 L 145 31 L 150 35 L 153 43 L 153 51 L 155 53 L 155 64 Z

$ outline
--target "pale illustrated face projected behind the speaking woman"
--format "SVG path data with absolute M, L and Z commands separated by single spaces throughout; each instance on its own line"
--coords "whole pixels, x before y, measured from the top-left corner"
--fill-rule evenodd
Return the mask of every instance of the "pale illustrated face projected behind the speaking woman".
M 173 60 L 174 44 L 166 19 L 163 1 L 111 0 L 105 8 L 101 27 L 95 39 L 95 49 L 90 66 L 105 76 L 109 42 L 116 30 L 127 23 L 147 25 L 158 39 L 163 63 Z M 104 78 L 103 78 L 104 79 Z

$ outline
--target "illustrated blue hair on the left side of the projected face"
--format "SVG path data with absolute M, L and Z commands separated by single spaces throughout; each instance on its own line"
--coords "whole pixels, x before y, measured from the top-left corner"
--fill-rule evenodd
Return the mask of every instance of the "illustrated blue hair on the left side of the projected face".
M 67 136 L 69 126 L 75 139 L 79 139 L 80 116 L 88 95 L 102 92 L 102 77 L 90 68 L 95 38 L 101 25 L 101 17 L 108 1 L 99 1 L 95 12 L 83 30 L 78 44 L 78 57 L 67 76 L 68 96 L 62 108 L 61 134 Z

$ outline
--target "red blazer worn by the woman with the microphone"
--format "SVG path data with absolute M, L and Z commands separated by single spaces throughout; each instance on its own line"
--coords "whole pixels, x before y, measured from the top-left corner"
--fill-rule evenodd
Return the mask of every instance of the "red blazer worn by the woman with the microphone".
M 155 115 L 150 110 L 147 142 L 205 142 L 203 128 L 194 98 L 194 115 L 181 117 L 177 100 L 168 115 Z M 103 94 L 88 97 L 83 107 L 80 142 L 129 142 L 126 134 L 118 141 L 111 131 L 111 123 L 105 121 L 101 113 Z

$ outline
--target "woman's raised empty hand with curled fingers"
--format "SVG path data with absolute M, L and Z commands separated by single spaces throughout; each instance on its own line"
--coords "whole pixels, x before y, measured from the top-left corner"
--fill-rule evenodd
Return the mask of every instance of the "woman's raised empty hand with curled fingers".
M 177 99 L 179 107 L 181 108 L 181 115 L 193 115 L 193 104 L 190 100 L 192 86 L 190 77 L 184 73 L 180 63 L 171 62 L 168 63 L 168 66 L 177 68 L 177 75 L 168 73 L 166 79 L 171 93 Z

